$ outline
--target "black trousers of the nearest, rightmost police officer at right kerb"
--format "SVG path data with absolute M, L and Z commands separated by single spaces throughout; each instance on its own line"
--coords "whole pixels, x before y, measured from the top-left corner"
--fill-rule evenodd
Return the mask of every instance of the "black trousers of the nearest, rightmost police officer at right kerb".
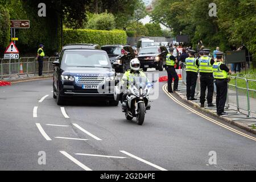
M 228 93 L 228 82 L 226 81 L 226 79 L 216 79 L 215 84 L 217 88 L 217 114 L 221 114 L 224 112 L 224 107 L 226 103 L 226 96 Z

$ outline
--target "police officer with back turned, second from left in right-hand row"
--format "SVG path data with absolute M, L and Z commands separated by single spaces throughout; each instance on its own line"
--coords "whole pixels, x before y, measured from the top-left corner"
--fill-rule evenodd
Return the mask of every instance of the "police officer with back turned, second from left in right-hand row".
M 186 72 L 187 72 L 187 100 L 195 101 L 195 90 L 196 90 L 196 80 L 198 75 L 198 66 L 196 65 L 195 58 L 196 51 L 189 49 L 188 55 L 185 59 Z

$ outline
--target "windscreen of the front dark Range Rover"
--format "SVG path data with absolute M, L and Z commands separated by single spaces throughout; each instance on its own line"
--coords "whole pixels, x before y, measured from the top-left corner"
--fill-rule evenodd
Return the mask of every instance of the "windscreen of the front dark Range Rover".
M 61 68 L 70 67 L 112 68 L 105 52 L 65 51 L 61 61 Z

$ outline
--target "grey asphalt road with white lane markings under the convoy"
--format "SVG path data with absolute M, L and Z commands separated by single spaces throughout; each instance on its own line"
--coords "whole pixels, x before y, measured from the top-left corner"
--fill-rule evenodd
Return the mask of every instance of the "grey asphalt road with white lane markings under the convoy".
M 61 110 L 52 79 L 1 87 L 0 170 L 256 169 L 255 135 L 188 110 L 163 91 L 164 84 L 142 126 L 127 121 L 120 104 L 76 100 Z M 46 164 L 38 163 L 40 151 Z M 210 151 L 217 164 L 209 164 Z

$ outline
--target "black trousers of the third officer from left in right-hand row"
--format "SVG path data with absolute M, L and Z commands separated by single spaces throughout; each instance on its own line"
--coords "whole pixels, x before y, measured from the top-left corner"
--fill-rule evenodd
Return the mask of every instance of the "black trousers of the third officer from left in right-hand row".
M 214 78 L 212 74 L 209 74 L 209 76 L 200 76 L 200 103 L 204 104 L 205 102 L 205 92 L 206 89 L 208 91 L 207 94 L 207 102 L 208 104 L 212 104 L 212 97 L 213 97 L 213 85 Z

